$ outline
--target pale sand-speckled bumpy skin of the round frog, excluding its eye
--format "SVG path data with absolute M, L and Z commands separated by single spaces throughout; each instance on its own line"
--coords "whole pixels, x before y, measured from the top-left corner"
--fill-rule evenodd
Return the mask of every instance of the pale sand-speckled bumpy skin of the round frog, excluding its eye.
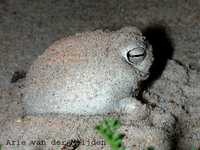
M 146 50 L 146 57 L 137 64 L 127 62 L 127 52 L 137 47 Z M 46 49 L 31 66 L 24 107 L 28 114 L 123 110 L 126 105 L 120 100 L 136 93 L 148 77 L 152 59 L 151 46 L 135 27 L 69 36 Z

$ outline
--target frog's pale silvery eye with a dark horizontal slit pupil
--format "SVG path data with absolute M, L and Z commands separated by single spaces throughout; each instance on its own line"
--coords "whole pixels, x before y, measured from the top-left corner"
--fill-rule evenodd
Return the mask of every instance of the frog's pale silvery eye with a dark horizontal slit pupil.
M 134 48 L 127 53 L 127 59 L 130 63 L 137 64 L 144 60 L 146 51 L 142 47 Z

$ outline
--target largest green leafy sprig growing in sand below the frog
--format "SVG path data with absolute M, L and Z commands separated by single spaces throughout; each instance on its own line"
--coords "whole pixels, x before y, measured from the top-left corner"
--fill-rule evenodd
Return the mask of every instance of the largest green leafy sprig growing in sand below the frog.
M 94 126 L 94 129 L 101 134 L 112 150 L 125 150 L 125 148 L 121 145 L 125 134 L 114 135 L 115 131 L 120 127 L 120 121 L 110 120 L 109 116 L 106 116 L 104 121 L 106 124 L 105 128 L 103 128 L 103 122 L 100 122 L 99 125 Z

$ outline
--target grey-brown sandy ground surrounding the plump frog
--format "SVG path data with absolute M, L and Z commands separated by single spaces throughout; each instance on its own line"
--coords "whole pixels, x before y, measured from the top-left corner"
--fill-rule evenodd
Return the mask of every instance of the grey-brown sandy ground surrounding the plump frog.
M 119 132 L 127 135 L 124 145 L 127 149 L 155 146 L 180 150 L 200 146 L 199 7 L 198 0 L 0 0 L 2 149 L 64 147 L 52 144 L 54 139 L 81 139 L 87 144 L 92 139 L 102 140 L 92 129 L 102 116 L 21 118 L 24 78 L 17 79 L 24 77 L 36 57 L 58 39 L 77 32 L 116 30 L 127 25 L 143 31 L 153 46 L 155 62 L 138 96 L 153 110 L 149 119 L 127 125 L 123 117 L 112 116 L 122 120 Z M 10 145 L 8 140 L 17 142 Z M 33 140 L 45 140 L 47 145 L 28 144 Z M 84 147 L 82 142 L 78 149 L 108 149 L 108 146 Z

